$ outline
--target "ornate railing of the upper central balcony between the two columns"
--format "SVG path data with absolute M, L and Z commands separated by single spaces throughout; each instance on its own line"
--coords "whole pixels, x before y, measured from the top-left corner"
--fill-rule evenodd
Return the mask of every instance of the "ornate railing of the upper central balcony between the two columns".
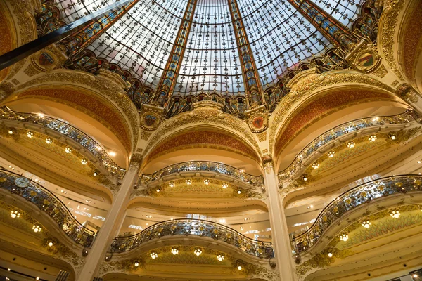
M 153 181 L 158 181 L 164 176 L 179 174 L 181 172 L 186 171 L 210 171 L 217 174 L 236 178 L 238 181 L 243 181 L 243 183 L 248 183 L 253 186 L 261 187 L 264 185 L 263 176 L 252 176 L 250 174 L 242 172 L 239 169 L 236 169 L 234 166 L 229 166 L 222 163 L 200 161 L 181 162 L 178 164 L 167 166 L 164 169 L 156 171 L 153 174 L 143 174 L 141 178 L 139 178 L 139 183 L 145 185 Z

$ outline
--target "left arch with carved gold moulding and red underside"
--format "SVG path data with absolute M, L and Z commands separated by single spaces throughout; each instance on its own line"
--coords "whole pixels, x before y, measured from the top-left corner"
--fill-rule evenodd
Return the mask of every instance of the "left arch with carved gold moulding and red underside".
M 37 77 L 17 87 L 4 103 L 31 96 L 53 100 L 63 100 L 66 104 L 87 110 L 112 129 L 122 140 L 127 152 L 136 148 L 139 136 L 139 114 L 134 104 L 123 94 L 124 83 L 113 73 L 94 76 L 75 70 L 56 70 Z M 59 91 L 72 91 L 74 94 L 60 95 Z M 122 93 L 122 94 L 121 94 Z

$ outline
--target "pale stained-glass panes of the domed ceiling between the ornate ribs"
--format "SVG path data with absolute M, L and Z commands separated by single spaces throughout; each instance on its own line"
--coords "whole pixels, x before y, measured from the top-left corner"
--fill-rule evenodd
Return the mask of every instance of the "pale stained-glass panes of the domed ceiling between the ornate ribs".
M 231 0 L 192 2 L 196 2 L 193 22 L 174 95 L 219 91 L 243 96 L 244 77 L 234 32 L 234 15 L 229 7 Z M 58 0 L 58 3 L 64 20 L 72 22 L 103 8 L 110 1 Z M 273 83 L 289 68 L 330 46 L 293 3 L 300 6 L 302 0 L 237 0 L 262 86 Z M 315 4 L 347 27 L 359 12 L 359 5 L 354 0 L 319 0 Z M 187 0 L 137 1 L 88 48 L 97 57 L 131 70 L 144 85 L 155 89 L 165 72 L 187 7 Z

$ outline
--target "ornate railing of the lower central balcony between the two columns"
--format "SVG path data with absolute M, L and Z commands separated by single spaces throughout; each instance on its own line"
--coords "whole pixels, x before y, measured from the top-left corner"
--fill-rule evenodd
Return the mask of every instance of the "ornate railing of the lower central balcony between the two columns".
M 198 219 L 175 219 L 156 223 L 146 228 L 141 233 L 127 237 L 115 237 L 110 251 L 121 253 L 130 251 L 141 246 L 142 243 L 173 235 L 196 235 L 210 237 L 231 244 L 246 253 L 260 258 L 269 259 L 274 257 L 271 242 L 252 240 L 236 230 L 212 221 Z

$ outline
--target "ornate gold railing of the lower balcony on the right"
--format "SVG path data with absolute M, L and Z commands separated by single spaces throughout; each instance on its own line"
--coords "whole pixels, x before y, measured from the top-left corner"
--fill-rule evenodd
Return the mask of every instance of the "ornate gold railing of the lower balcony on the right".
M 305 233 L 293 237 L 293 248 L 298 252 L 306 251 L 321 238 L 329 226 L 362 204 L 389 195 L 421 192 L 421 185 L 422 176 L 419 175 L 389 176 L 358 185 L 328 204 Z

